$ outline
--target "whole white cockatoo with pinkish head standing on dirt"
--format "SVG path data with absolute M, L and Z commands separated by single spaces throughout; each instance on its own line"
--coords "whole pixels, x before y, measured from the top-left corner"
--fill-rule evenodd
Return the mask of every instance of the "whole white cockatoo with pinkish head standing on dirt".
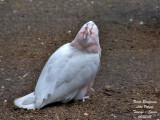
M 38 79 L 35 91 L 14 104 L 40 109 L 53 102 L 84 100 L 100 67 L 99 31 L 93 21 L 83 25 L 71 43 L 51 55 Z

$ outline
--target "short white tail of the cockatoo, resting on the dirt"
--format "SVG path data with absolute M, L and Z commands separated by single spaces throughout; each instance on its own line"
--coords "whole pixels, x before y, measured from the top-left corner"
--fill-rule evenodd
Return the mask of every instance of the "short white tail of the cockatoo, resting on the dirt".
M 14 104 L 19 108 L 35 110 L 35 95 L 34 92 L 14 100 Z

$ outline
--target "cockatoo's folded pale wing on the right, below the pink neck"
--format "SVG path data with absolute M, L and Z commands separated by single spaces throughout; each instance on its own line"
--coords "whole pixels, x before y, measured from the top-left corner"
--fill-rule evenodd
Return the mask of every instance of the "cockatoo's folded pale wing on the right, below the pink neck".
M 63 97 L 90 84 L 97 74 L 99 61 L 98 54 L 83 55 L 72 59 L 62 70 L 57 81 L 55 99 L 61 101 Z

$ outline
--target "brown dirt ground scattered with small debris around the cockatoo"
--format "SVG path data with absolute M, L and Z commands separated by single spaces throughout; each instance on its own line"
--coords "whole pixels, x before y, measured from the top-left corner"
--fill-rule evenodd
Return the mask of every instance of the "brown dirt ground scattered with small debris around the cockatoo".
M 35 111 L 14 106 L 34 90 L 49 56 L 89 20 L 102 47 L 90 99 Z M 159 120 L 160 1 L 0 0 L 0 73 L 1 120 Z

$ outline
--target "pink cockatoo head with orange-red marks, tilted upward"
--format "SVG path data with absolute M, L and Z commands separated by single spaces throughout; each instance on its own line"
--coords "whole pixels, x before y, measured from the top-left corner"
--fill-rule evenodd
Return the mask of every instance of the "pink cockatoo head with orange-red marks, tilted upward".
M 71 42 L 71 46 L 86 50 L 89 53 L 101 54 L 99 31 L 96 24 L 93 21 L 84 24 L 75 39 Z

